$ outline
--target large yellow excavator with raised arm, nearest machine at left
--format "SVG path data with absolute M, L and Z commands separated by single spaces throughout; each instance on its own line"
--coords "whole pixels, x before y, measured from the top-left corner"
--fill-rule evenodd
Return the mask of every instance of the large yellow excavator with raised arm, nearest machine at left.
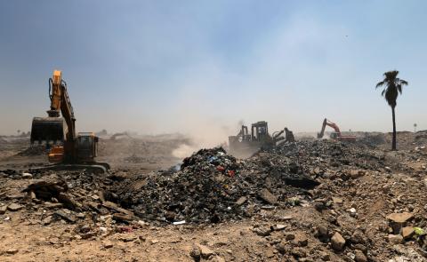
M 31 126 L 31 144 L 38 142 L 52 146 L 48 158 L 53 164 L 40 169 L 107 172 L 108 163 L 94 160 L 99 138 L 93 132 L 76 134 L 76 117 L 60 70 L 54 70 L 49 78 L 49 99 L 48 117 L 34 117 Z

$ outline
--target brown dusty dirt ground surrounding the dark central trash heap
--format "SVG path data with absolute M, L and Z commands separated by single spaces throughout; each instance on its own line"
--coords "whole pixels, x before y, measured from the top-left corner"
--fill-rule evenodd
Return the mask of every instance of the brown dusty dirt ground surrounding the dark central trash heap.
M 0 140 L 0 260 L 427 261 L 425 234 L 412 232 L 400 239 L 401 228 L 393 232 L 393 221 L 388 218 L 393 213 L 407 213 L 410 218 L 400 226 L 427 230 L 427 140 L 421 137 L 399 133 L 400 150 L 391 152 L 390 134 L 380 139 L 372 134 L 360 142 L 363 147 L 354 147 L 356 151 L 340 146 L 353 150 L 353 155 L 338 163 L 326 161 L 335 156 L 322 155 L 330 151 L 318 155 L 297 142 L 300 151 L 296 155 L 302 157 L 297 159 L 304 161 L 299 165 L 320 183 L 318 187 L 302 190 L 302 195 L 291 199 L 292 204 L 288 199 L 286 205 L 260 205 L 251 217 L 200 225 L 142 218 L 121 223 L 111 219 L 110 213 L 90 211 L 76 212 L 79 219 L 72 222 L 51 216 L 61 210 L 58 204 L 28 201 L 22 190 L 40 179 L 73 175 L 50 172 L 21 176 L 31 167 L 45 164 L 46 156 L 28 151 L 28 139 Z M 138 176 L 181 163 L 172 152 L 186 143 L 188 139 L 175 136 L 104 139 L 99 160 L 111 163 L 114 179 L 123 174 Z M 334 147 L 334 142 L 325 145 Z M 252 167 L 267 159 L 270 169 L 289 167 L 294 156 L 286 148 L 281 149 L 285 153 L 266 152 L 243 163 Z M 304 158 L 306 153 L 310 158 Z M 105 175 L 91 176 L 90 187 L 73 187 L 81 191 L 82 202 L 91 197 L 100 202 L 96 195 L 106 187 L 98 183 Z M 77 189 L 73 190 L 80 192 Z M 15 210 L 12 203 L 20 206 Z M 340 247 L 336 247 L 340 244 L 335 234 L 344 241 Z

